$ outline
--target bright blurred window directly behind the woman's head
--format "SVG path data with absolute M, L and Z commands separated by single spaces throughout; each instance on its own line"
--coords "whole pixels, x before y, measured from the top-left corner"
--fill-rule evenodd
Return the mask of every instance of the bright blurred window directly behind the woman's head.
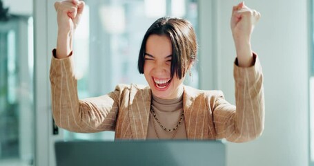
M 197 30 L 195 0 L 86 0 L 84 17 L 75 34 L 74 57 L 79 77 L 79 98 L 104 95 L 119 83 L 147 84 L 137 71 L 141 40 L 148 27 L 159 17 L 171 15 L 188 19 Z M 198 87 L 196 66 L 186 84 Z M 114 138 L 110 131 L 71 133 L 70 139 Z

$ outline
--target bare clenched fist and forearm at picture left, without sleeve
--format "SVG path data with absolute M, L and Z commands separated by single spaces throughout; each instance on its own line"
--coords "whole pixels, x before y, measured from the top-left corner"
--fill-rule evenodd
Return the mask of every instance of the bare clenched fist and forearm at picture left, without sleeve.
M 79 25 L 84 1 L 65 0 L 55 2 L 58 23 L 57 58 L 67 57 L 72 51 L 72 35 Z

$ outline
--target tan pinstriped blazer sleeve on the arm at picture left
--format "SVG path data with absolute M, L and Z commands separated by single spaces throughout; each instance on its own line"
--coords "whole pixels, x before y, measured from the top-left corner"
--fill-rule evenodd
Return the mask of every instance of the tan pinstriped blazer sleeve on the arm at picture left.
M 52 115 L 57 126 L 80 133 L 115 130 L 121 89 L 97 98 L 79 100 L 72 64 L 72 56 L 63 59 L 52 57 Z

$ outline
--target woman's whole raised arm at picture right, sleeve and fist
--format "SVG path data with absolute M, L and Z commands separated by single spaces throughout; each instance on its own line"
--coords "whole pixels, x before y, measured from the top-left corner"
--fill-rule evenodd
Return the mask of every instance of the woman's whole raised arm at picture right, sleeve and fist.
M 215 100 L 216 138 L 246 142 L 257 138 L 264 130 L 262 67 L 251 50 L 251 34 L 259 17 L 259 12 L 246 7 L 243 2 L 233 6 L 230 24 L 237 52 L 233 73 L 236 107 L 226 102 L 223 96 Z

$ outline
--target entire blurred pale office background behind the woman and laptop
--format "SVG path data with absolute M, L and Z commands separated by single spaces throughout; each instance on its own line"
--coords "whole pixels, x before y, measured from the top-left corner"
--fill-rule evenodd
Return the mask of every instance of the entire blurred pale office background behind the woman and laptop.
M 55 0 L 2 0 L 0 6 L 0 165 L 55 165 L 57 140 L 113 140 L 114 133 L 72 133 L 55 127 L 48 80 L 57 40 Z M 86 0 L 75 34 L 79 97 L 116 84 L 146 84 L 137 71 L 141 39 L 157 18 L 184 17 L 199 41 L 186 84 L 220 89 L 235 104 L 231 0 Z M 266 122 L 252 142 L 226 143 L 226 163 L 314 165 L 314 55 L 311 0 L 247 0 L 262 13 L 253 50 L 264 71 Z M 210 155 L 210 154 L 208 154 Z

